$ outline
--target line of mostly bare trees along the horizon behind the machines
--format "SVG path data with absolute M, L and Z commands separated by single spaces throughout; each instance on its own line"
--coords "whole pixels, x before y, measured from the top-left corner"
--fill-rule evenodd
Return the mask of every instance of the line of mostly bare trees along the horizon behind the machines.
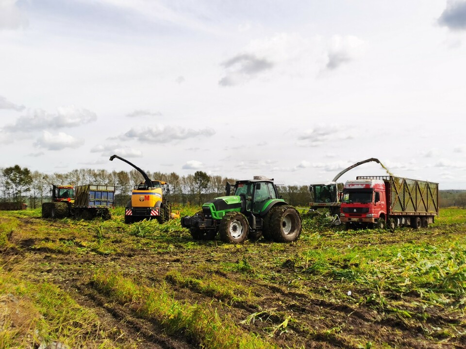
M 152 180 L 167 182 L 168 199 L 178 205 L 201 205 L 218 196 L 225 195 L 227 181 L 233 184 L 235 178 L 209 175 L 203 171 L 179 175 L 175 172 L 162 173 L 146 171 Z M 251 178 L 252 179 L 252 178 Z M 50 201 L 52 185 L 114 185 L 117 206 L 125 206 L 131 191 L 144 181 L 137 170 L 107 171 L 75 169 L 67 173 L 44 174 L 31 171 L 19 165 L 0 169 L 0 201 L 25 202 L 35 208 Z M 307 207 L 310 202 L 308 186 L 279 186 L 283 198 L 294 206 Z

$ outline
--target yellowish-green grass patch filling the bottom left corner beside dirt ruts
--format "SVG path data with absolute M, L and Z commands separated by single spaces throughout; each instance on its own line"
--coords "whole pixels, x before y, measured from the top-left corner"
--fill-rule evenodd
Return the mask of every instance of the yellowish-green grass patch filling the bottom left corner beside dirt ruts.
M 58 342 L 70 348 L 116 348 L 99 318 L 57 286 L 17 279 L 0 268 L 0 348 L 37 348 Z

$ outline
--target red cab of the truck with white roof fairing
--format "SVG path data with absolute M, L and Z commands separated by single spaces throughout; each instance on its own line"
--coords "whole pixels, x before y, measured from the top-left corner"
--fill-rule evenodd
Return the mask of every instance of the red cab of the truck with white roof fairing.
M 385 227 L 387 195 L 385 182 L 377 179 L 350 180 L 341 199 L 340 220 L 346 227 Z

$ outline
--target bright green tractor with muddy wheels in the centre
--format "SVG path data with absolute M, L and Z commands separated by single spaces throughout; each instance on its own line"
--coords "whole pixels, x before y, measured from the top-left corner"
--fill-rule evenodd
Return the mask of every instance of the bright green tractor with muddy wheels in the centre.
M 182 217 L 181 226 L 196 240 L 213 240 L 217 233 L 232 243 L 261 236 L 277 242 L 299 238 L 300 214 L 280 198 L 273 179 L 240 180 L 233 188 L 227 183 L 226 194 L 206 202 L 194 216 Z

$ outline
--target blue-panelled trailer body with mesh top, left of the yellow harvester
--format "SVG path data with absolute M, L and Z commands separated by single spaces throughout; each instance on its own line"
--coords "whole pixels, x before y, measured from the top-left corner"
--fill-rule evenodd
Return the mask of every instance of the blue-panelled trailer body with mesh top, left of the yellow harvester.
M 76 187 L 74 207 L 114 207 L 115 186 L 86 184 Z

